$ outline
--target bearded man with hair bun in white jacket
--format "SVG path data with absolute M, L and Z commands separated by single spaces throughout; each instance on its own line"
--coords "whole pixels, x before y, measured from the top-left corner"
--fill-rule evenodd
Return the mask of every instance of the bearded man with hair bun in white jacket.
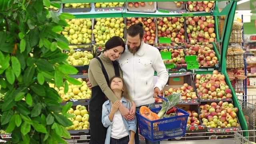
M 142 40 L 144 29 L 142 23 L 133 24 L 127 30 L 127 44 L 125 52 L 120 56 L 118 62 L 123 72 L 124 81 L 128 91 L 136 105 L 136 111 L 141 106 L 155 108 L 153 97 L 161 95 L 161 91 L 168 81 L 168 72 L 164 66 L 159 50 Z M 155 86 L 153 85 L 154 72 L 159 76 Z M 88 82 L 90 87 L 90 82 Z M 150 104 L 152 102 L 152 104 Z M 126 118 L 134 118 L 130 115 Z M 146 144 L 160 144 L 145 140 Z M 135 143 L 140 144 L 138 137 L 138 124 L 135 134 Z

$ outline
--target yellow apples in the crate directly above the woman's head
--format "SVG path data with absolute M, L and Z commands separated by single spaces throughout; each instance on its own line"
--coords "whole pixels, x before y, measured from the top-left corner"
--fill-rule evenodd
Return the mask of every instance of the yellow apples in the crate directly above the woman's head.
M 95 18 L 92 33 L 96 44 L 105 44 L 113 36 L 124 38 L 124 18 Z

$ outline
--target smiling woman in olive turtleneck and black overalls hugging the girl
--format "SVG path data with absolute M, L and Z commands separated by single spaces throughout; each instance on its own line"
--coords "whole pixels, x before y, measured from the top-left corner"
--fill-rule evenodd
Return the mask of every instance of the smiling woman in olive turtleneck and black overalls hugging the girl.
M 92 84 L 92 96 L 89 104 L 90 144 L 104 144 L 105 142 L 107 128 L 101 122 L 102 105 L 106 101 L 105 96 L 113 103 L 118 100 L 108 87 L 108 83 L 114 76 L 122 77 L 122 70 L 116 60 L 124 50 L 125 43 L 122 38 L 113 36 L 106 42 L 105 50 L 90 61 L 88 70 L 88 78 Z M 131 109 L 135 112 L 134 102 L 132 102 Z M 119 110 L 124 117 L 130 112 L 122 104 Z

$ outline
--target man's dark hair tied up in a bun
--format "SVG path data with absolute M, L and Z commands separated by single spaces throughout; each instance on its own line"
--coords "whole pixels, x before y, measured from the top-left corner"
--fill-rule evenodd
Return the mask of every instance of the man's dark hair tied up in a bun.
M 140 39 L 142 39 L 144 35 L 143 24 L 139 22 L 138 24 L 131 25 L 127 30 L 127 34 L 131 37 L 134 37 L 140 34 Z

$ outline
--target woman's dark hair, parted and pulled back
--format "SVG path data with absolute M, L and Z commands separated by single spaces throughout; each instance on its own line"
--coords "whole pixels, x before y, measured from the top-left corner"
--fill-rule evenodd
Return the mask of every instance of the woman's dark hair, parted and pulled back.
M 122 46 L 124 48 L 124 50 L 125 50 L 124 40 L 122 38 L 120 38 L 119 36 L 113 36 L 112 38 L 110 38 L 106 42 L 105 49 L 103 51 L 99 52 L 99 54 L 97 56 L 99 56 L 102 52 L 104 52 L 106 50 L 110 50 L 110 49 L 115 48 L 117 46 Z

